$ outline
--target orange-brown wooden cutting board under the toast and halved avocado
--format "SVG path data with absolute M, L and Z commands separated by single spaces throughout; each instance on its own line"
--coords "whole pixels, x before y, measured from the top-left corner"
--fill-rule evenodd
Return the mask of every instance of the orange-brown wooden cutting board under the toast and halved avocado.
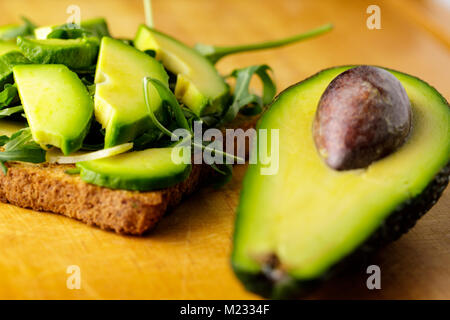
M 156 26 L 189 44 L 239 44 L 292 35 L 327 22 L 335 30 L 288 48 L 230 57 L 223 73 L 267 63 L 279 89 L 330 66 L 375 64 L 416 75 L 450 98 L 448 8 L 432 1 L 376 1 L 381 30 L 368 30 L 371 1 L 155 1 Z M 406 4 L 408 2 L 408 4 Z M 2 1 L 1 24 L 25 15 L 39 25 L 66 21 L 72 0 Z M 105 16 L 114 35 L 133 37 L 140 0 L 77 0 L 82 18 Z M 0 205 L 0 298 L 246 299 L 229 263 L 244 166 L 225 188 L 190 197 L 152 232 L 125 237 L 54 214 Z M 365 287 L 366 266 L 311 298 L 450 298 L 450 192 L 417 226 L 373 258 L 381 290 Z M 66 286 L 68 266 L 81 289 Z

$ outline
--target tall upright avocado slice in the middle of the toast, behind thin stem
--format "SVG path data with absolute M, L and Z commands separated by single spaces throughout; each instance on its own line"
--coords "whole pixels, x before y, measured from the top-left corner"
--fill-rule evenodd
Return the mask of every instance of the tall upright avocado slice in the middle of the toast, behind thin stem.
M 160 62 L 120 40 L 102 39 L 95 73 L 95 117 L 106 129 L 105 148 L 157 130 L 144 100 L 144 77 L 168 86 L 169 76 Z M 163 120 L 161 99 L 153 88 L 150 97 L 153 112 Z

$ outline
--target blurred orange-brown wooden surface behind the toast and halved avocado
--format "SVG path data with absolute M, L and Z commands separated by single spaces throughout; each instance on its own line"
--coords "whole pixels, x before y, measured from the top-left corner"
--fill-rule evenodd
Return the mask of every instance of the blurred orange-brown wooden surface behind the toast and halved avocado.
M 381 11 L 381 29 L 369 30 L 369 5 Z M 81 18 L 104 16 L 114 36 L 133 38 L 144 22 L 141 0 L 0 0 L 0 22 L 30 17 L 60 24 L 69 5 Z M 449 0 L 153 0 L 155 27 L 184 42 L 244 44 L 286 37 L 327 22 L 335 29 L 294 46 L 224 59 L 223 73 L 267 63 L 278 89 L 334 65 L 375 64 L 419 76 L 450 98 Z

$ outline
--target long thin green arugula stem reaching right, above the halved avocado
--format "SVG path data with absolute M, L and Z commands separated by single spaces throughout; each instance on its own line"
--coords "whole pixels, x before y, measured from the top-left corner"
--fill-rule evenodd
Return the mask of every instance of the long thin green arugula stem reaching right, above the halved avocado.
M 254 44 L 248 44 L 248 45 L 240 45 L 240 46 L 231 46 L 231 47 L 217 47 L 217 46 L 198 43 L 194 46 L 194 49 L 197 52 L 199 52 L 200 54 L 202 54 L 203 56 L 205 56 L 213 64 L 216 64 L 217 61 L 219 61 L 223 57 L 228 56 L 230 54 L 278 48 L 278 47 L 282 47 L 282 46 L 285 46 L 288 44 L 292 44 L 292 43 L 296 43 L 296 42 L 299 42 L 302 40 L 316 37 L 318 35 L 321 35 L 323 33 L 330 31 L 331 29 L 333 29 L 333 25 L 326 24 L 326 25 L 323 25 L 316 29 L 313 29 L 313 30 L 310 30 L 310 31 L 307 31 L 304 33 L 300 33 L 300 34 L 294 35 L 292 37 L 275 40 L 275 41 L 267 41 L 267 42 L 254 43 Z

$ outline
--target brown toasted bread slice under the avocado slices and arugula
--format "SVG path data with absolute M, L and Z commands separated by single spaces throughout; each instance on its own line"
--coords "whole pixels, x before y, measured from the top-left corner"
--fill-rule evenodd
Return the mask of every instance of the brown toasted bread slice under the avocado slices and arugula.
M 230 128 L 253 128 L 256 120 L 239 117 Z M 162 190 L 136 192 L 99 187 L 82 181 L 79 175 L 65 173 L 74 165 L 13 162 L 7 166 L 8 173 L 0 173 L 1 202 L 61 214 L 130 235 L 151 230 L 168 210 L 207 182 L 212 171 L 205 164 L 194 164 L 189 177 L 181 183 Z

